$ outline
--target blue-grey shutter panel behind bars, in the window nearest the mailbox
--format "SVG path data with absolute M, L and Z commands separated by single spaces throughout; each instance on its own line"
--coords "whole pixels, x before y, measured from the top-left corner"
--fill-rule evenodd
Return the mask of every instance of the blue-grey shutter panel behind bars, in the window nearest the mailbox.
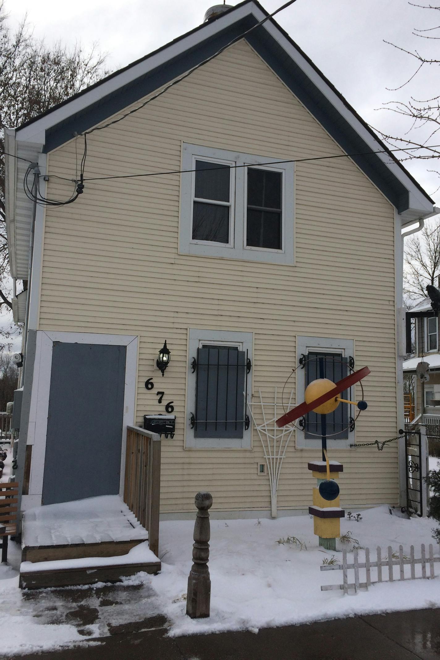
M 195 438 L 243 438 L 245 375 L 244 351 L 197 350 Z

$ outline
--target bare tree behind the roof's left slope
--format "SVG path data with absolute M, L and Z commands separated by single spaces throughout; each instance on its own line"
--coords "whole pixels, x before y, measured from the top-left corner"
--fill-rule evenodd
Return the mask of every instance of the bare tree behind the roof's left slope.
M 0 0 L 0 308 L 11 308 L 5 230 L 4 129 L 33 119 L 52 106 L 100 80 L 105 56 L 96 44 L 88 51 L 80 44 L 67 49 L 57 42 L 36 40 L 26 17 L 13 31 Z

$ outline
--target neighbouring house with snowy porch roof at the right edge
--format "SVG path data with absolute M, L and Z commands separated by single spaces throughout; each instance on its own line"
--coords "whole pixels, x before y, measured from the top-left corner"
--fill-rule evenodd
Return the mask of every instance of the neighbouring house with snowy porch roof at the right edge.
M 430 298 L 425 298 L 407 312 L 407 319 L 408 329 L 409 319 L 414 319 L 414 357 L 404 361 L 403 371 L 408 383 L 411 383 L 408 389 L 411 389 L 414 399 L 414 416 L 421 413 L 439 414 L 439 319 L 432 310 Z M 429 364 L 429 381 L 425 383 L 416 378 L 416 368 L 422 360 Z

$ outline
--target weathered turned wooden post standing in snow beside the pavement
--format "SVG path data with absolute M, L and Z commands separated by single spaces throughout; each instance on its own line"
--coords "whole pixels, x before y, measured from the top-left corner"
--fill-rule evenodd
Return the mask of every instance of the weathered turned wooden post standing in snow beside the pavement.
M 194 525 L 193 566 L 188 578 L 187 615 L 191 618 L 209 616 L 211 581 L 209 578 L 209 512 L 212 506 L 210 493 L 197 493 L 194 498 L 197 516 Z

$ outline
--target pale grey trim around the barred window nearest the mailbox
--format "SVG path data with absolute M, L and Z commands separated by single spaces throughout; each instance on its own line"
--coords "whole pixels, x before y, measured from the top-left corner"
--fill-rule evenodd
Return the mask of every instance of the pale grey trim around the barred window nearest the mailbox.
M 194 430 L 191 428 L 191 413 L 195 413 L 196 378 L 192 373 L 191 361 L 197 356 L 197 348 L 203 344 L 224 344 L 225 346 L 236 346 L 246 351 L 253 364 L 253 333 L 235 332 L 232 330 L 199 330 L 189 329 L 188 339 L 188 365 L 187 365 L 187 397 L 186 397 L 186 422 L 185 422 L 185 449 L 251 449 L 252 447 L 252 425 L 243 430 L 243 438 L 195 438 Z M 247 402 L 251 401 L 252 395 L 252 373 L 247 374 L 247 401 L 244 414 L 247 414 Z

